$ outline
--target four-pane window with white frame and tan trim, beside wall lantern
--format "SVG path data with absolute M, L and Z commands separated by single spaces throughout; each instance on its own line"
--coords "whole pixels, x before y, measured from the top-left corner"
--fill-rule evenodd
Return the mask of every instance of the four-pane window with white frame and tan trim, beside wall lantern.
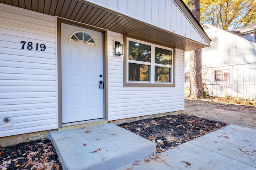
M 124 85 L 174 85 L 173 49 L 128 37 L 126 49 L 126 82 Z

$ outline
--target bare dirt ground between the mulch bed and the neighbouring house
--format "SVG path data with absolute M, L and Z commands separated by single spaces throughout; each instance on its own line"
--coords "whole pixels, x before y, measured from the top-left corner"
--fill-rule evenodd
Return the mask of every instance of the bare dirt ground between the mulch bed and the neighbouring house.
M 256 107 L 254 105 L 230 104 L 210 99 L 186 99 L 183 113 L 256 129 Z

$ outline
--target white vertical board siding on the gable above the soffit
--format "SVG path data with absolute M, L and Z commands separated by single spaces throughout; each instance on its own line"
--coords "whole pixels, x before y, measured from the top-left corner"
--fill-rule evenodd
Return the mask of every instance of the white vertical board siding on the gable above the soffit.
M 190 26 L 190 21 L 185 12 L 176 4 L 175 0 L 86 0 L 104 8 L 114 10 L 125 16 L 130 16 L 186 37 L 199 43 L 206 43 L 195 27 Z M 189 27 L 187 29 L 187 27 Z M 182 30 L 181 30 L 182 29 Z M 186 30 L 191 31 L 186 32 Z M 195 34 L 196 35 L 195 35 Z

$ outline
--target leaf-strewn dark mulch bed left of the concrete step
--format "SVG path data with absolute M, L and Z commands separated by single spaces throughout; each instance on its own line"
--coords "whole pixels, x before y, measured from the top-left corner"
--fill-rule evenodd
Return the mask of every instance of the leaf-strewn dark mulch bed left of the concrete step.
M 0 170 L 62 170 L 50 140 L 0 147 Z

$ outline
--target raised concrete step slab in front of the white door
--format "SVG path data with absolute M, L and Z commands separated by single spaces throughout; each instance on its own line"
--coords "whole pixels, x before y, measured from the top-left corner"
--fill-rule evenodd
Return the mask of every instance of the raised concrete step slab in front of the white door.
M 156 154 L 156 144 L 112 123 L 52 131 L 64 170 L 113 170 Z

